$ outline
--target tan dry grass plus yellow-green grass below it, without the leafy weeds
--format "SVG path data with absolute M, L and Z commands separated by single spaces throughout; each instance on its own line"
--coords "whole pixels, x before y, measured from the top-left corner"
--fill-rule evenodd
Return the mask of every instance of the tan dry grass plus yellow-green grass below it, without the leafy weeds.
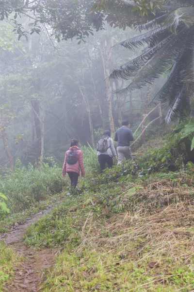
M 80 245 L 59 256 L 44 291 L 193 291 L 194 198 L 192 188 L 174 184 L 152 182 L 135 194 L 126 189 L 124 204 L 139 200 L 133 212 L 100 220 L 88 212 Z

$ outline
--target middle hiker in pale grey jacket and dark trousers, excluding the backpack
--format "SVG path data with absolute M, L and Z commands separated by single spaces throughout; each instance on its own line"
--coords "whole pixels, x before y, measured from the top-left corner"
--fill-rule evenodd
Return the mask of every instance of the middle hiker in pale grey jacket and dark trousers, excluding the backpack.
M 102 138 L 107 139 L 107 151 L 105 152 L 97 151 L 97 161 L 100 164 L 100 173 L 105 169 L 106 163 L 108 164 L 109 168 L 113 166 L 113 156 L 117 160 L 113 139 L 110 137 L 110 135 L 111 135 L 110 131 L 105 130 L 102 136 Z

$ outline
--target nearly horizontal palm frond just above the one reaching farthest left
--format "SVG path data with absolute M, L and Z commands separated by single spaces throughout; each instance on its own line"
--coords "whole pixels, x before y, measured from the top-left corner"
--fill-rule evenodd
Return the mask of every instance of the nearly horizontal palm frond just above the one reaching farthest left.
M 139 48 L 140 46 L 149 45 L 152 41 L 157 41 L 161 34 L 168 34 L 166 25 L 162 27 L 157 27 L 146 34 L 133 37 L 131 39 L 127 39 L 125 41 L 121 41 L 117 43 L 115 46 L 121 45 L 126 49 L 132 50 L 135 48 Z

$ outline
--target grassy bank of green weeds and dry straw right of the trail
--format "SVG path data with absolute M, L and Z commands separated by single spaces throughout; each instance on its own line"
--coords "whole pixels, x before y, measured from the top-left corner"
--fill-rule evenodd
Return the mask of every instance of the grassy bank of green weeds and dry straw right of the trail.
M 41 291 L 194 289 L 194 164 L 165 143 L 148 154 L 82 181 L 28 229 L 27 245 L 61 250 Z

